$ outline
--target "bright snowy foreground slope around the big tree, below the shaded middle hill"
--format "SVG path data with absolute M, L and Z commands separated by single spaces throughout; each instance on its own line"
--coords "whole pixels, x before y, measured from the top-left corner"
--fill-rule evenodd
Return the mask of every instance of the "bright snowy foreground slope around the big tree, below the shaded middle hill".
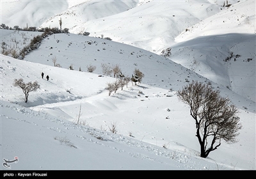
M 49 81 L 41 78 L 42 69 Z M 28 104 L 22 90 L 12 86 L 20 77 L 40 84 Z M 1 157 L 19 157 L 22 165 L 12 164 L 12 169 L 255 169 L 255 104 L 223 91 L 232 102 L 239 99 L 239 143 L 222 143 L 207 159 L 200 159 L 195 123 L 175 91 L 130 83 L 108 96 L 104 86 L 111 81 L 115 79 L 1 55 Z M 117 134 L 108 132 L 111 123 Z M 57 150 L 62 157 L 54 155 Z M 91 157 L 81 156 L 86 151 Z M 118 160 L 110 167 L 103 162 L 113 161 L 108 157 Z M 82 159 L 92 164 L 83 165 Z M 137 159 L 142 159 L 141 165 L 132 165 Z

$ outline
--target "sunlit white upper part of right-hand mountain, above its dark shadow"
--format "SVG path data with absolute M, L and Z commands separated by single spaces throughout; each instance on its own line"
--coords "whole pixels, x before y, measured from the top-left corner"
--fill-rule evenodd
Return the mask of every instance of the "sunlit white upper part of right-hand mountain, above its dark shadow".
M 221 35 L 227 33 L 255 34 L 255 1 L 240 1 L 219 13 L 188 27 L 175 38 L 175 42 L 185 42 L 198 36 Z

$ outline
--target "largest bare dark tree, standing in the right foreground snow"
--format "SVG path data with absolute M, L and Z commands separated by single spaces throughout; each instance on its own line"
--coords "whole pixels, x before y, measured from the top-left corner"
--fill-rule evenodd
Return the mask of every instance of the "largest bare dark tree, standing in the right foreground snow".
M 214 91 L 208 84 L 193 81 L 179 90 L 177 96 L 189 105 L 190 115 L 196 122 L 201 157 L 206 158 L 216 150 L 221 139 L 230 144 L 237 142 L 238 130 L 242 128 L 236 116 L 238 109 L 235 105 L 228 105 L 230 100 L 221 97 L 220 91 Z

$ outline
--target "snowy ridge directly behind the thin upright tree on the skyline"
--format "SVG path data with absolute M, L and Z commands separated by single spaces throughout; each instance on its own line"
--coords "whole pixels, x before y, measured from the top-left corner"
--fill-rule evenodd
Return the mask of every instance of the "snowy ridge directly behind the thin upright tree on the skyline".
M 138 5 L 139 1 L 86 1 L 52 16 L 40 27 L 60 27 L 61 18 L 63 28 L 70 29 L 70 33 L 79 33 L 72 30 L 74 27 L 84 27 L 90 20 L 100 19 L 125 12 Z M 83 31 L 80 31 L 83 33 Z M 93 35 L 93 32 L 91 32 Z

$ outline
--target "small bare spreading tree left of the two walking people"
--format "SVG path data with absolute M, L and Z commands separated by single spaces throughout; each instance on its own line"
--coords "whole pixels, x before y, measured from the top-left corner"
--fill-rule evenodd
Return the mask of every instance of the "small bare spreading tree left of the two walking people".
M 23 93 L 25 94 L 25 102 L 28 102 L 29 92 L 40 89 L 40 85 L 38 84 L 37 81 L 33 83 L 32 82 L 25 83 L 23 79 L 14 79 L 13 86 L 17 86 L 22 89 Z

